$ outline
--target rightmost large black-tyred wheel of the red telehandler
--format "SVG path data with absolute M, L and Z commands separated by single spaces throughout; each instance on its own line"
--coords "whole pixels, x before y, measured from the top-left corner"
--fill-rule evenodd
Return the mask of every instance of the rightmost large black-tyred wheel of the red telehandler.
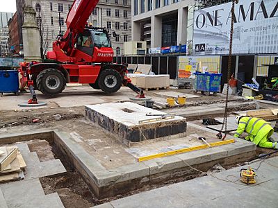
M 117 92 L 122 87 L 122 76 L 115 69 L 101 71 L 98 80 L 100 89 L 108 94 Z

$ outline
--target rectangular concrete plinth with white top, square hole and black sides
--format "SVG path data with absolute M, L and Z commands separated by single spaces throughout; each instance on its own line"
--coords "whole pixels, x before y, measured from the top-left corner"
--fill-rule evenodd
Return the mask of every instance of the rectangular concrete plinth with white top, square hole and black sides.
M 161 119 L 161 116 L 146 114 L 165 114 L 143 107 L 136 103 L 105 103 L 85 107 L 86 119 L 116 134 L 124 141 L 138 142 L 161 137 L 183 137 L 186 135 L 186 119 L 174 116 L 174 119 Z M 147 123 L 139 121 L 161 119 Z

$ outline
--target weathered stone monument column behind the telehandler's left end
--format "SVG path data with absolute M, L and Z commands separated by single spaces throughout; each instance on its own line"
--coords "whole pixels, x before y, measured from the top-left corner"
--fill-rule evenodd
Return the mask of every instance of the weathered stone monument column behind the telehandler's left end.
M 40 57 L 40 31 L 35 20 L 35 10 L 31 0 L 25 0 L 23 10 L 24 24 L 22 25 L 22 39 L 24 60 L 26 62 L 41 62 Z

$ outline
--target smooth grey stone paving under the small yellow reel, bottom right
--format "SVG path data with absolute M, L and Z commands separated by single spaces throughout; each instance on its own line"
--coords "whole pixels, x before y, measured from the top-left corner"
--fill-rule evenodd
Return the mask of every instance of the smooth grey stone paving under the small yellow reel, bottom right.
M 96 208 L 121 207 L 278 207 L 278 157 L 251 164 L 257 169 L 256 184 L 239 180 L 241 168 L 214 173 L 108 202 Z M 259 168 L 259 169 L 258 169 Z

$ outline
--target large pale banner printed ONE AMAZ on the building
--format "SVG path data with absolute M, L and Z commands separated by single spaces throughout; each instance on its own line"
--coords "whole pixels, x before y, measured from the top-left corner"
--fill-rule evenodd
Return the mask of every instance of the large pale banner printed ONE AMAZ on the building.
M 278 52 L 278 0 L 240 0 L 234 15 L 232 53 Z M 231 3 L 195 12 L 195 55 L 229 53 L 231 18 Z

